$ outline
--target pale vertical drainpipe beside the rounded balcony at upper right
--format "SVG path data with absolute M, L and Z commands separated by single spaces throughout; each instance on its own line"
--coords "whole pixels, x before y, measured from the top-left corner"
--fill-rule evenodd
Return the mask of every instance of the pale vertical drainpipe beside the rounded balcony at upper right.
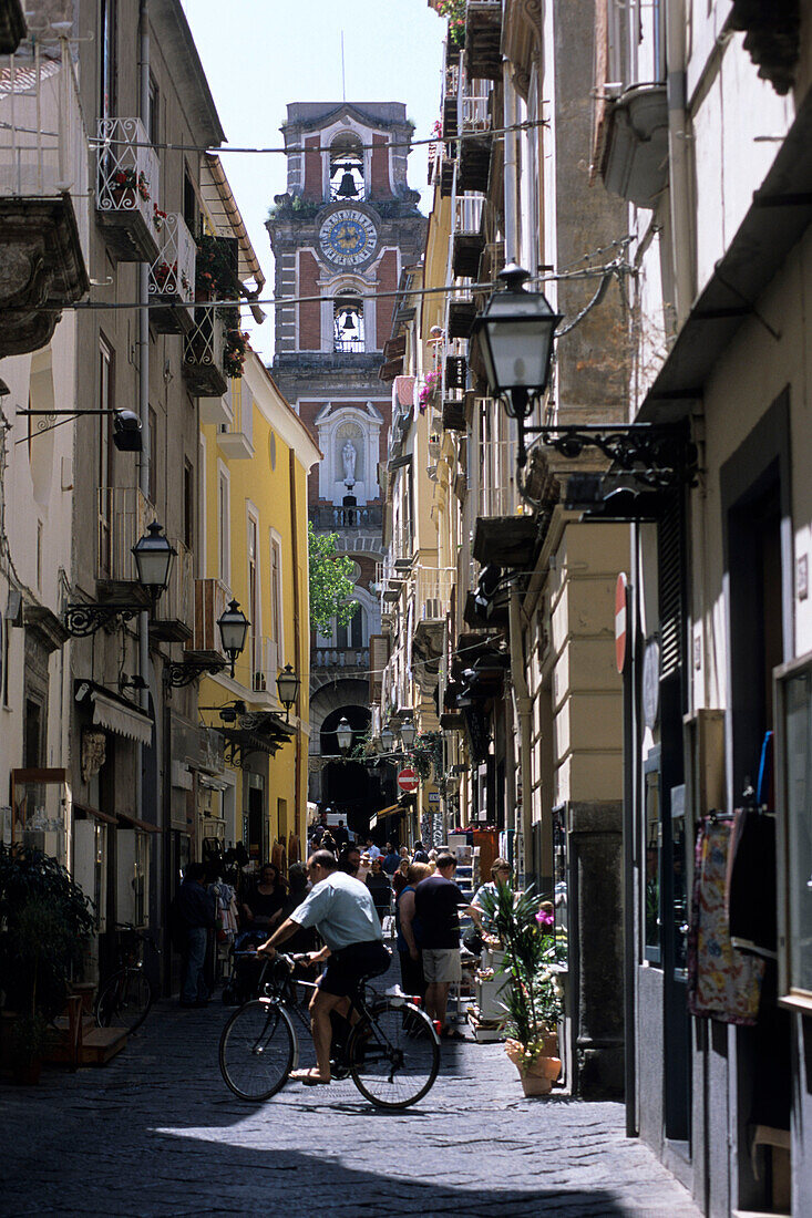
M 690 158 L 688 155 L 688 100 L 685 88 L 685 0 L 666 6 L 666 71 L 668 96 L 668 163 L 671 184 L 672 269 L 674 312 L 682 326 L 694 301 L 694 224 Z

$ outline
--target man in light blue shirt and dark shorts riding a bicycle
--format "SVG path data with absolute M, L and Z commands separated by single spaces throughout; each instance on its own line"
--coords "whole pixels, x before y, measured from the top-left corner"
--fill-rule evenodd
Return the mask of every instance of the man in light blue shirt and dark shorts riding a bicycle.
M 293 1071 L 290 1078 L 315 1086 L 330 1082 L 330 1013 L 344 1018 L 350 998 L 361 978 L 386 971 L 389 952 L 383 945 L 380 921 L 366 884 L 338 870 L 329 850 L 316 850 L 307 860 L 312 889 L 278 931 L 257 949 L 271 959 L 276 949 L 302 927 L 316 927 L 326 946 L 311 951 L 310 963 L 327 962 L 310 1002 L 311 1030 L 316 1046 L 316 1069 Z

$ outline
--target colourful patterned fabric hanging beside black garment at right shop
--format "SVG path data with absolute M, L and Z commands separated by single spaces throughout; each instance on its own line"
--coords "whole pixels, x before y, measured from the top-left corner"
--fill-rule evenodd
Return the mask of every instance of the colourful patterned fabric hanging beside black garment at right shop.
M 736 951 L 724 907 L 732 822 L 706 816 L 696 834 L 688 1007 L 700 1018 L 753 1024 L 766 962 Z

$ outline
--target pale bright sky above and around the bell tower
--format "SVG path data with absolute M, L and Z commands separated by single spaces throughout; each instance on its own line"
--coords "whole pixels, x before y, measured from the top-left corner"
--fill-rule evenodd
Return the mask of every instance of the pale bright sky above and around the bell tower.
M 182 0 L 219 121 L 235 146 L 282 145 L 290 101 L 341 101 L 341 32 L 347 101 L 402 101 L 427 139 L 439 117 L 445 22 L 426 0 Z M 221 151 L 251 244 L 273 287 L 265 229 L 273 196 L 287 189 L 285 157 Z M 427 149 L 408 158 L 410 185 L 428 211 Z M 244 323 L 263 358 L 273 350 L 273 313 Z

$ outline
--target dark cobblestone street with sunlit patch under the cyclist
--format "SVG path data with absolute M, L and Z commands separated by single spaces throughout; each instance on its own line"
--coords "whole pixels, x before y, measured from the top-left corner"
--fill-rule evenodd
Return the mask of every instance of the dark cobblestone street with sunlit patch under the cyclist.
M 106 1068 L 0 1086 L 2 1214 L 695 1218 L 618 1104 L 527 1100 L 501 1045 L 444 1045 L 427 1099 L 373 1111 L 351 1082 L 251 1107 L 222 1082 L 219 1002 L 168 1001 Z M 307 1063 L 305 1056 L 304 1063 Z

